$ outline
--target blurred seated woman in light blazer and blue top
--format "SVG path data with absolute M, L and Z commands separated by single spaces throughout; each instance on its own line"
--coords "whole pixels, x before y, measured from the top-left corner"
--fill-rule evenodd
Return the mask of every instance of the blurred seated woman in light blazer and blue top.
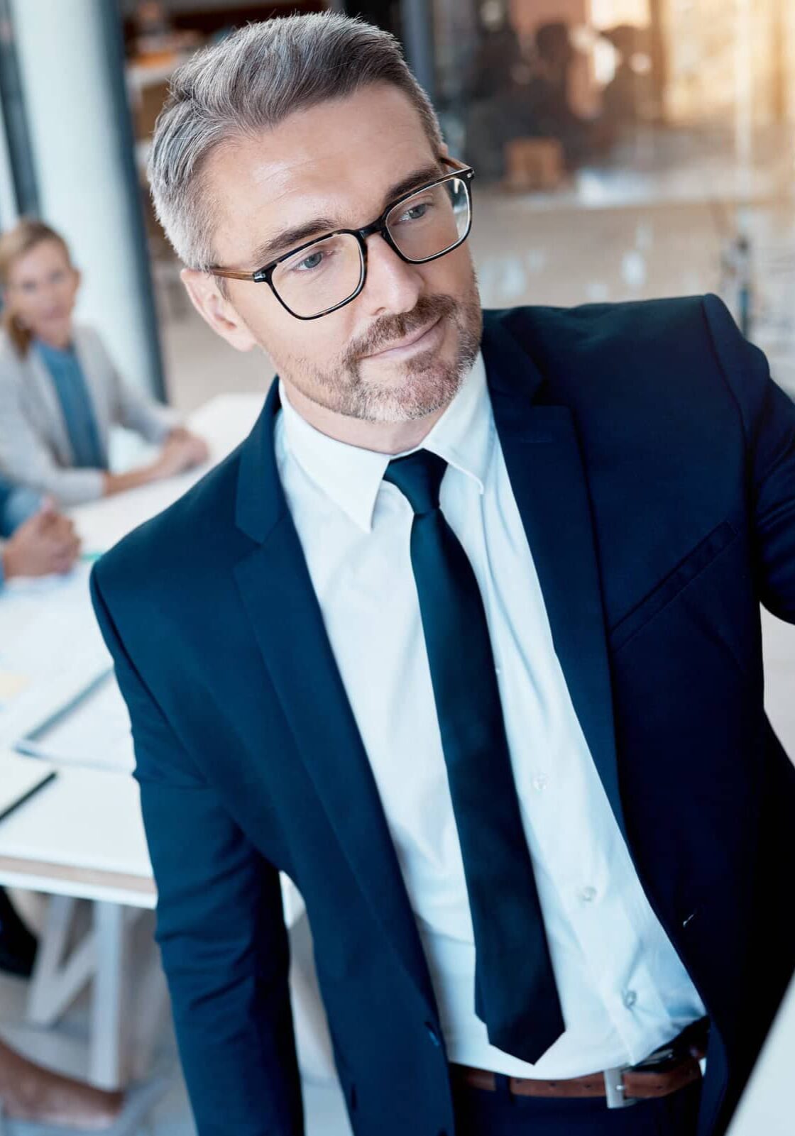
M 207 460 L 206 443 L 127 386 L 99 335 L 73 323 L 80 273 L 64 239 L 23 219 L 0 237 L 0 466 L 61 506 L 170 477 Z M 126 474 L 108 469 L 110 428 L 161 446 Z

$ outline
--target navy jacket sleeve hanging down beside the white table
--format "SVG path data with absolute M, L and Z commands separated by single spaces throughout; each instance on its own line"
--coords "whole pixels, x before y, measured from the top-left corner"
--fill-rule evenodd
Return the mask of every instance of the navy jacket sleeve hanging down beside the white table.
M 278 872 L 192 767 L 125 651 L 99 575 L 92 598 L 132 719 L 157 939 L 199 1136 L 301 1136 Z

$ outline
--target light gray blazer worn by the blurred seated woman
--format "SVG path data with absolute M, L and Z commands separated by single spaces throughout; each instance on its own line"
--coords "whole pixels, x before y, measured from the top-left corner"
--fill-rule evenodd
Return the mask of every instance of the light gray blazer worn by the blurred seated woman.
M 106 453 L 111 426 L 126 426 L 158 444 L 178 425 L 174 411 L 124 382 L 93 328 L 76 326 L 74 344 Z M 102 496 L 102 471 L 73 465 L 50 373 L 35 351 L 20 358 L 8 336 L 0 335 L 0 468 L 61 506 Z

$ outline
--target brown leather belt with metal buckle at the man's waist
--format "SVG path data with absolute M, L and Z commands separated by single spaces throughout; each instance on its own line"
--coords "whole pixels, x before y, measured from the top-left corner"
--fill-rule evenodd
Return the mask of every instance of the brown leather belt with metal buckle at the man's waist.
M 680 1045 L 679 1038 L 669 1046 L 656 1050 L 651 1058 L 637 1066 L 619 1066 L 603 1072 L 560 1080 L 530 1080 L 509 1077 L 509 1092 L 514 1096 L 604 1096 L 608 1108 L 624 1108 L 635 1101 L 669 1096 L 701 1078 L 698 1061 L 706 1053 L 705 1038 L 693 1038 Z M 453 1085 L 468 1085 L 495 1092 L 496 1076 L 487 1069 L 451 1064 Z

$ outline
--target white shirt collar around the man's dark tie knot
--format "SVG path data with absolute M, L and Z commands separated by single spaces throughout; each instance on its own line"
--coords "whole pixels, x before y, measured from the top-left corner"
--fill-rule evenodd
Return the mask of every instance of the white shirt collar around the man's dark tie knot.
M 355 525 L 369 533 L 378 492 L 393 456 L 337 442 L 315 429 L 291 404 L 282 382 L 279 399 L 287 452 Z M 417 449 L 444 458 L 471 477 L 483 493 L 493 433 L 486 368 L 478 353 L 458 394 Z

